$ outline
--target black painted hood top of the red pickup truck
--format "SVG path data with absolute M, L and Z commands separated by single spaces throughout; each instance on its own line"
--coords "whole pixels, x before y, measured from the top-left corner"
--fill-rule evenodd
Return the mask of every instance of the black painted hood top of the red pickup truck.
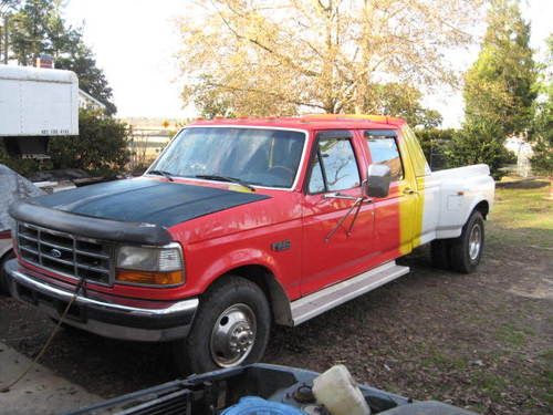
M 163 227 L 269 196 L 156 179 L 127 179 L 40 196 L 30 201 L 94 218 Z

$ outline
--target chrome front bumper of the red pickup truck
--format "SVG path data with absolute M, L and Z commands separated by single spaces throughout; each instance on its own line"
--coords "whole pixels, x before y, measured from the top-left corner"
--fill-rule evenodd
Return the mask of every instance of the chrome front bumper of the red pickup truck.
M 15 259 L 6 262 L 4 270 L 7 287 L 13 298 L 38 307 L 55 320 L 73 298 L 73 292 L 41 280 Z M 188 334 L 199 303 L 192 298 L 142 301 L 137 307 L 115 300 L 113 297 L 107 300 L 79 294 L 63 322 L 106 338 L 163 342 Z

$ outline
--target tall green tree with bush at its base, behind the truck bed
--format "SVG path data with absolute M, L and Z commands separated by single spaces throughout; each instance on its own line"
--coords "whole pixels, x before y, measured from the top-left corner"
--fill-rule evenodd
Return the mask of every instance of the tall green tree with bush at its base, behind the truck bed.
M 532 125 L 538 69 L 518 0 L 491 0 L 487 21 L 480 53 L 465 77 L 465 124 L 445 154 L 451 167 L 486 163 L 500 178 L 501 167 L 513 160 L 505 138 L 528 134 Z

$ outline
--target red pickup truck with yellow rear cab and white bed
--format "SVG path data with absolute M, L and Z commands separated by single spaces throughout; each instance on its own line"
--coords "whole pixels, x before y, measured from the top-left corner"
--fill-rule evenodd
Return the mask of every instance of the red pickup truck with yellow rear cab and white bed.
M 430 172 L 398 118 L 199 121 L 140 178 L 13 205 L 18 299 L 101 335 L 171 341 L 180 369 L 259 361 L 298 325 L 434 261 L 472 271 L 493 200 L 488 166 Z

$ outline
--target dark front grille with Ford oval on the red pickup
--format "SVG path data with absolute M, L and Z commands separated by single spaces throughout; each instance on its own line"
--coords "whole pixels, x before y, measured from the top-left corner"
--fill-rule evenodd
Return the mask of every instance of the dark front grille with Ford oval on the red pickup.
M 27 262 L 67 277 L 113 281 L 112 245 L 31 224 L 19 222 L 17 229 L 19 252 Z

